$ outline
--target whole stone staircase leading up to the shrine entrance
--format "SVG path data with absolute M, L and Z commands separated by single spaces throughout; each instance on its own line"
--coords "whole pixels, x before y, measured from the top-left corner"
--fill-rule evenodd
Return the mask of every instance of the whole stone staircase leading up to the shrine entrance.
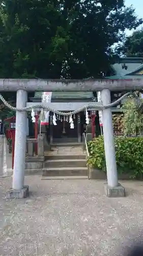
M 82 144 L 53 144 L 45 155 L 42 179 L 88 179 Z

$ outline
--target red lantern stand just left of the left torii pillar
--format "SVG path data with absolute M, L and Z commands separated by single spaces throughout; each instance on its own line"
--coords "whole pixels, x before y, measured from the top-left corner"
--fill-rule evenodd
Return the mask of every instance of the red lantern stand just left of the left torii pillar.
M 16 117 L 12 116 L 10 118 L 6 118 L 5 122 L 9 123 L 9 127 L 6 130 L 6 138 L 12 139 L 12 169 L 14 166 L 14 148 L 15 148 L 15 122 L 16 122 Z

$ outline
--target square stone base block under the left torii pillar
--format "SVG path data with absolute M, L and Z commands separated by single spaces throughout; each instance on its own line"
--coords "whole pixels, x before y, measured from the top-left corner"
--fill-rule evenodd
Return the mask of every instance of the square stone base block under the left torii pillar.
M 21 190 L 10 189 L 7 191 L 7 199 L 22 199 L 29 196 L 28 186 L 24 186 Z

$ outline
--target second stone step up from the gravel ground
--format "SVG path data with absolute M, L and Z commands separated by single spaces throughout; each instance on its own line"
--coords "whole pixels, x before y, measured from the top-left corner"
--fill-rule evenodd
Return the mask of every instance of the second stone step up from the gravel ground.
M 43 167 L 86 167 L 87 161 L 85 159 L 56 159 L 46 160 Z

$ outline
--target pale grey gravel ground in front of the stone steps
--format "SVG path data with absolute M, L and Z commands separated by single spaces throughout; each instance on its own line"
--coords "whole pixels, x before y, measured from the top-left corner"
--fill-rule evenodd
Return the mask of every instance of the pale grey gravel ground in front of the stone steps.
M 142 182 L 122 181 L 127 197 L 113 199 L 103 181 L 27 176 L 30 197 L 6 200 L 11 183 L 0 179 L 0 255 L 123 255 L 141 238 Z

